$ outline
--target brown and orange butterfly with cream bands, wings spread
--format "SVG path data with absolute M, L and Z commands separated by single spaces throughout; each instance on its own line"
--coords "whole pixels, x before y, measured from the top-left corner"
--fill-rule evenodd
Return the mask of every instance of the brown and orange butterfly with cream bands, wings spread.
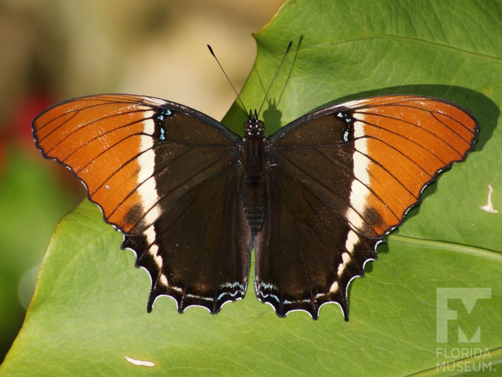
M 278 316 L 313 319 L 376 259 L 424 187 L 473 149 L 478 124 L 445 100 L 392 95 L 311 112 L 265 137 L 243 136 L 189 107 L 124 94 L 56 104 L 32 123 L 46 158 L 70 168 L 122 249 L 182 313 L 220 311 L 254 288 Z

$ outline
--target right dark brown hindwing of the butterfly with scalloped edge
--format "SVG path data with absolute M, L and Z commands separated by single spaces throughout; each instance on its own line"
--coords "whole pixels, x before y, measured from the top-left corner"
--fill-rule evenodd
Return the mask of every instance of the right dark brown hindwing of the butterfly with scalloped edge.
M 348 318 L 345 289 L 363 264 L 376 258 L 379 239 L 362 237 L 312 190 L 305 175 L 278 164 L 268 174 L 266 220 L 255 247 L 257 297 L 279 316 L 305 310 L 317 319 L 322 304 L 336 302 Z

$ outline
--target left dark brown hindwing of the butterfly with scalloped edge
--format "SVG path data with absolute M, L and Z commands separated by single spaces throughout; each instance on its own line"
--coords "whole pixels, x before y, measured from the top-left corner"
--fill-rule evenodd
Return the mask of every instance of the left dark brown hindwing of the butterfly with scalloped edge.
M 251 244 L 236 198 L 239 175 L 224 170 L 179 199 L 166 197 L 149 228 L 126 235 L 122 247 L 136 250 L 137 265 L 152 276 L 149 311 L 160 295 L 173 297 L 179 312 L 198 305 L 211 313 L 244 297 Z

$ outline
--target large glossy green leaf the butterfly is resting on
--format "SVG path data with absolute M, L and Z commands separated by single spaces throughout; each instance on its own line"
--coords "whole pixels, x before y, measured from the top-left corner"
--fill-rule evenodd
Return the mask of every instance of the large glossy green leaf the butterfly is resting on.
M 216 316 L 202 308 L 179 315 L 166 297 L 147 314 L 147 273 L 84 202 L 56 229 L 0 374 L 402 376 L 502 368 L 501 19 L 495 1 L 298 0 L 256 35 L 257 60 L 241 93 L 250 107 L 260 105 L 294 41 L 263 113 L 269 133 L 338 100 L 396 92 L 456 102 L 481 126 L 467 161 L 426 190 L 399 233 L 379 246 L 379 261 L 354 280 L 348 323 L 336 305 L 323 307 L 318 321 L 302 312 L 280 319 L 252 289 Z M 234 105 L 224 123 L 240 132 L 244 119 Z M 479 208 L 488 184 L 498 214 Z M 437 304 L 445 293 L 447 306 Z M 447 341 L 438 342 L 447 313 Z M 461 342 L 459 328 L 473 342 Z M 450 364 L 436 369 L 443 362 Z

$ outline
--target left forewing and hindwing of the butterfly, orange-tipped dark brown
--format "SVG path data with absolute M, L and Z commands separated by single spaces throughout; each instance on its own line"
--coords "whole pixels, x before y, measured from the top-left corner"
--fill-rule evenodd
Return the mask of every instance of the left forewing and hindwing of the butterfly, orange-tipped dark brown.
M 237 207 L 241 138 L 185 106 L 132 95 L 83 97 L 33 121 L 37 146 L 69 167 L 122 248 L 182 312 L 242 298 L 251 240 Z

